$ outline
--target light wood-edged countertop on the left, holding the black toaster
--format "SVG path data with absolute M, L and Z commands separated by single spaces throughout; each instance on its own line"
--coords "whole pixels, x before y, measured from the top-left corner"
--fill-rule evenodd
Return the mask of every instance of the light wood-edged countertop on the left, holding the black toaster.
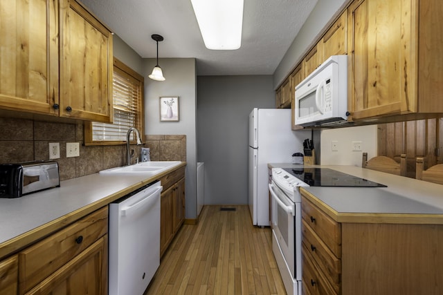
M 0 258 L 185 165 L 148 178 L 95 173 L 21 198 L 0 198 Z

